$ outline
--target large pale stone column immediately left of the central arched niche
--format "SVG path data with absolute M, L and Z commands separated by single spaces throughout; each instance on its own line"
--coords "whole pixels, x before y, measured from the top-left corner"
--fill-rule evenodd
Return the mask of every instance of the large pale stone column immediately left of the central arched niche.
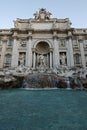
M 26 53 L 26 66 L 32 67 L 32 34 L 29 33 Z

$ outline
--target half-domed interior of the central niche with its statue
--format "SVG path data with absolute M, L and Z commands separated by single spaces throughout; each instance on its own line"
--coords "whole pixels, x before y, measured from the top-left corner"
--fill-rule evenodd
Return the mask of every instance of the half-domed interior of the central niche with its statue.
M 41 41 L 35 46 L 35 68 L 46 70 L 50 67 L 50 46 L 47 42 Z

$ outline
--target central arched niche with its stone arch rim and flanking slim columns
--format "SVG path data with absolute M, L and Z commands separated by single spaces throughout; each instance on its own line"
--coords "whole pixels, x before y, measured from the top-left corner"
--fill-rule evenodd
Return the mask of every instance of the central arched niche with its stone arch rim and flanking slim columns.
M 34 44 L 34 48 L 32 49 L 33 52 L 33 67 L 40 67 L 40 57 L 44 58 L 44 67 L 52 67 L 52 45 L 50 42 L 42 40 L 38 41 Z M 42 55 L 42 56 L 41 56 Z M 42 63 L 42 62 L 41 62 Z

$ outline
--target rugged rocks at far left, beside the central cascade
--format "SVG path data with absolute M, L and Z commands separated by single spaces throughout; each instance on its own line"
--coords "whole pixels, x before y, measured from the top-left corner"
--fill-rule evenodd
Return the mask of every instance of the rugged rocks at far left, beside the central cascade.
M 11 89 L 20 88 L 24 75 L 18 75 L 15 71 L 4 69 L 0 70 L 0 88 L 1 89 Z

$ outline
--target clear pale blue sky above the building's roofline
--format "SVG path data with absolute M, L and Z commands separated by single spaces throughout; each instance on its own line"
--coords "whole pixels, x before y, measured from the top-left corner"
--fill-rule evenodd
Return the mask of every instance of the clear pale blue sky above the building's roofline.
M 0 0 L 0 29 L 13 28 L 16 18 L 33 18 L 40 8 L 54 18 L 70 18 L 72 27 L 87 28 L 87 0 Z

